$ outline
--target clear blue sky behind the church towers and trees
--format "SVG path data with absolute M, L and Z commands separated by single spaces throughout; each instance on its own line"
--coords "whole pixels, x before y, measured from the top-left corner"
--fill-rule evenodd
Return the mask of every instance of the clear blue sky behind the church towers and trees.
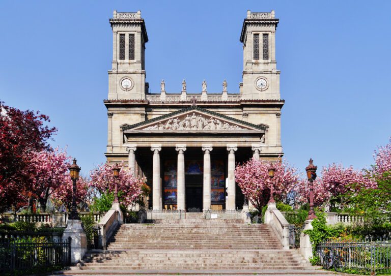
M 300 170 L 373 164 L 391 136 L 390 1 L 14 1 L 0 3 L 0 100 L 40 110 L 85 174 L 105 161 L 113 10 L 142 11 L 150 90 L 238 92 L 246 11 L 275 10 L 282 143 Z M 28 137 L 27 137 L 28 139 Z

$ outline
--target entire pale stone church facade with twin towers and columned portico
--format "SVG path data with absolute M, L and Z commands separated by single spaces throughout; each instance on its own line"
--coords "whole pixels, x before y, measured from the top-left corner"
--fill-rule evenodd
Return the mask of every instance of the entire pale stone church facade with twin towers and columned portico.
M 240 34 L 243 81 L 235 91 L 225 80 L 221 91 L 208 91 L 205 80 L 199 93 L 189 93 L 185 80 L 178 80 L 181 91 L 166 91 L 162 80 L 160 92 L 150 92 L 141 12 L 114 11 L 109 22 L 107 161 L 124 162 L 147 178 L 147 208 L 241 209 L 245 199 L 235 183 L 235 164 L 283 155 L 274 11 L 247 11 Z

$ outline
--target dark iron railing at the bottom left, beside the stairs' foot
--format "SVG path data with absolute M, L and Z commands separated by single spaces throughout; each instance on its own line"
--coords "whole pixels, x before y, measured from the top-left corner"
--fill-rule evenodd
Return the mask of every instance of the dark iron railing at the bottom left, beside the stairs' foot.
M 71 264 L 71 238 L 58 242 L 8 239 L 0 242 L 0 274 L 34 273 Z

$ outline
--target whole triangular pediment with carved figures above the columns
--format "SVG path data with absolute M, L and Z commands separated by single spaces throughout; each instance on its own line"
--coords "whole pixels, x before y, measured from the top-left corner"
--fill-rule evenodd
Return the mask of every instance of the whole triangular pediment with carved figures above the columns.
M 190 107 L 123 128 L 124 132 L 261 132 L 249 124 L 217 112 Z

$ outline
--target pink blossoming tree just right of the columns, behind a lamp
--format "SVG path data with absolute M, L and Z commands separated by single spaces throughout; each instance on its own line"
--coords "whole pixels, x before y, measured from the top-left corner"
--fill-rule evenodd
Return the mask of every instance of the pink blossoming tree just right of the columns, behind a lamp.
M 270 166 L 275 168 L 272 180 L 268 174 Z M 253 158 L 236 166 L 235 180 L 244 196 L 261 210 L 270 198 L 270 183 L 275 200 L 283 201 L 298 184 L 299 174 L 296 171 L 286 160 L 270 163 Z

